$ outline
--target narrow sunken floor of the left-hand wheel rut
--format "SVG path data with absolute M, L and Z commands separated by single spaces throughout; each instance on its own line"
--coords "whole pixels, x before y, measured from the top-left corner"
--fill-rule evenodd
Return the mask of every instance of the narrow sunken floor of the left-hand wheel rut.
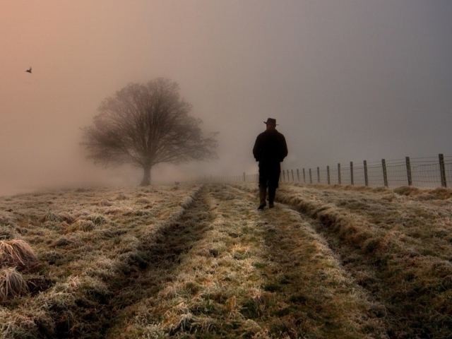
M 111 300 L 109 309 L 114 311 L 114 320 L 105 331 L 105 338 L 137 338 L 137 333 L 128 331 L 124 323 L 136 314 L 141 300 L 154 297 L 172 280 L 181 258 L 202 239 L 211 221 L 212 215 L 206 206 L 206 187 L 201 187 L 179 218 L 168 222 L 139 246 L 136 264 L 141 270 L 136 270 Z

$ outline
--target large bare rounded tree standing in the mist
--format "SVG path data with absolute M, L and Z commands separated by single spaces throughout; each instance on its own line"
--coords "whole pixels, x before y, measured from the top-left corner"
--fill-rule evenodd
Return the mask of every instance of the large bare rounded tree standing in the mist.
M 150 169 L 160 162 L 217 158 L 218 132 L 203 136 L 202 121 L 189 117 L 191 105 L 179 97 L 179 85 L 167 78 L 129 83 L 97 110 L 94 126 L 82 129 L 88 159 L 104 167 L 141 167 L 141 185 L 150 184 Z

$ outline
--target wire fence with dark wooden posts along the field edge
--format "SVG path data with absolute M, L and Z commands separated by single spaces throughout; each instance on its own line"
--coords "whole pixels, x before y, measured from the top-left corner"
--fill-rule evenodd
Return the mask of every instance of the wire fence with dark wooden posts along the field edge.
M 210 177 L 213 182 L 258 182 L 258 174 Z M 415 186 L 420 189 L 452 186 L 452 156 L 423 157 L 367 162 L 326 168 L 281 169 L 280 182 L 344 186 Z

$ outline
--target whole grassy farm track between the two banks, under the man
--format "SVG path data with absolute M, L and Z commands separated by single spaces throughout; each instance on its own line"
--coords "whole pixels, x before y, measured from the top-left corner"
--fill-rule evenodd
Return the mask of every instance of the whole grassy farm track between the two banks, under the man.
M 282 204 L 258 211 L 253 194 L 232 186 L 206 186 L 117 298 L 126 302 L 107 338 L 387 338 L 384 308 L 311 221 Z

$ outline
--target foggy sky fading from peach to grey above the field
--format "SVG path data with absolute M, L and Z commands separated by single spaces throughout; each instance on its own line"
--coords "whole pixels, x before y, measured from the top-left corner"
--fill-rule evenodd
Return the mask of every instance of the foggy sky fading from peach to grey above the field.
M 448 0 L 1 1 L 0 195 L 139 184 L 86 161 L 80 128 L 160 76 L 220 132 L 220 159 L 153 180 L 256 173 L 268 117 L 284 168 L 452 155 L 451 18 Z

